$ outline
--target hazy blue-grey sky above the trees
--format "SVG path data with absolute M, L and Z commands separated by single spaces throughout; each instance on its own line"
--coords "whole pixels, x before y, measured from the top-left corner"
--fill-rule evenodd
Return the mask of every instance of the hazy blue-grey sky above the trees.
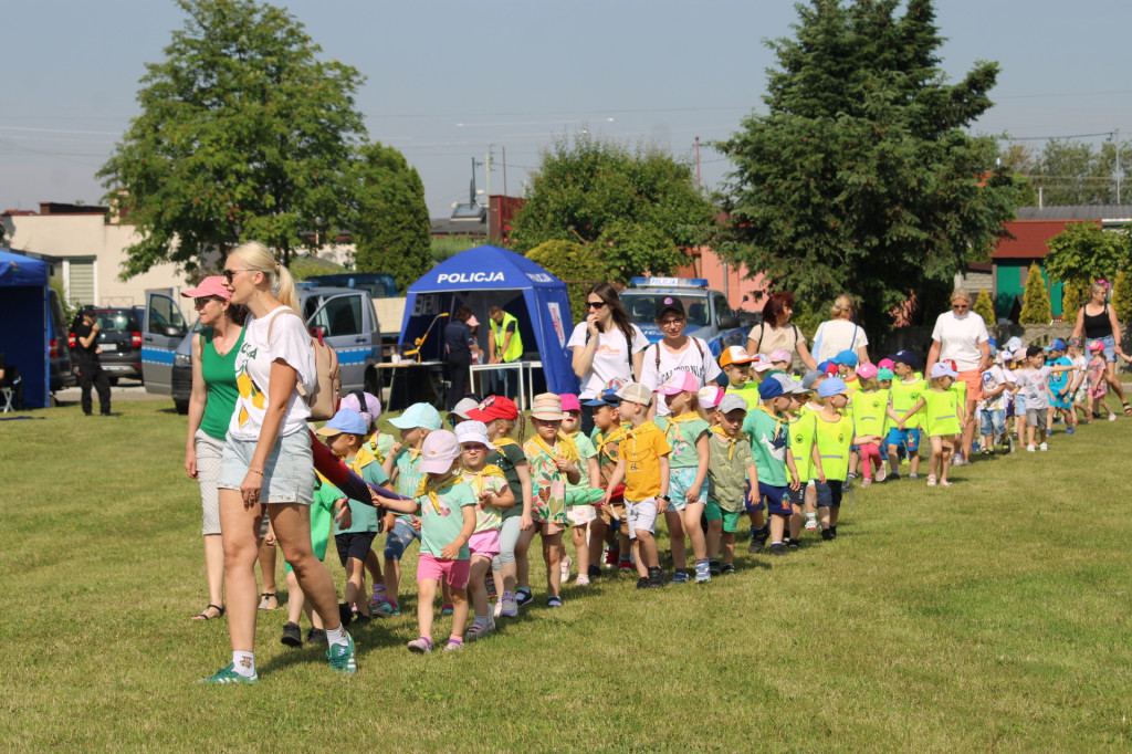
M 430 214 L 468 196 L 471 161 L 494 154 L 490 190 L 521 195 L 539 149 L 583 126 L 680 156 L 761 110 L 767 37 L 788 36 L 794 3 L 387 2 L 297 0 L 291 14 L 326 58 L 358 68 L 371 138 L 421 173 Z M 94 173 L 129 119 L 146 62 L 163 58 L 181 10 L 170 0 L 0 0 L 5 19 L 0 209 L 97 203 Z M 1013 137 L 1122 130 L 1132 138 L 1126 29 L 1115 0 L 941 0 L 952 80 L 1002 65 L 996 106 L 976 130 Z M 1104 137 L 1089 140 L 1099 143 Z M 1029 142 L 1040 148 L 1040 142 Z M 727 162 L 701 151 L 704 183 Z M 477 168 L 486 189 L 484 166 Z

